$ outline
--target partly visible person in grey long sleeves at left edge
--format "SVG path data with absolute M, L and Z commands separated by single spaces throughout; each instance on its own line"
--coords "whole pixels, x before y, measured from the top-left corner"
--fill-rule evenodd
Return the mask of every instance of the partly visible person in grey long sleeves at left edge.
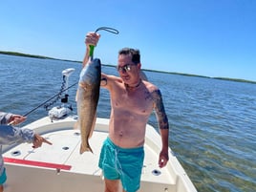
M 2 145 L 15 142 L 32 142 L 32 147 L 37 148 L 43 142 L 52 144 L 41 136 L 34 134 L 30 129 L 21 129 L 11 125 L 17 125 L 26 120 L 26 117 L 11 113 L 0 112 L 0 192 L 4 191 L 3 184 L 7 180 L 6 169 L 2 157 Z M 11 125 L 8 125 L 11 124 Z

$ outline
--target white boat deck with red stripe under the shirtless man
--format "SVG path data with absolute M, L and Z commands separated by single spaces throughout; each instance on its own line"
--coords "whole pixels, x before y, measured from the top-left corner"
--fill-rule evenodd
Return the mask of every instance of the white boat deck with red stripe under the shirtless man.
M 67 108 L 53 108 L 60 114 Z M 53 143 L 33 149 L 22 143 L 3 146 L 3 157 L 8 180 L 5 192 L 103 192 L 104 179 L 97 163 L 103 140 L 108 136 L 109 119 L 96 118 L 96 128 L 89 140 L 94 151 L 80 155 L 80 132 L 74 129 L 77 116 L 49 113 L 26 128 L 34 130 Z M 181 163 L 169 148 L 169 161 L 159 168 L 161 139 L 151 125 L 146 127 L 145 159 L 140 181 L 140 192 L 196 192 Z

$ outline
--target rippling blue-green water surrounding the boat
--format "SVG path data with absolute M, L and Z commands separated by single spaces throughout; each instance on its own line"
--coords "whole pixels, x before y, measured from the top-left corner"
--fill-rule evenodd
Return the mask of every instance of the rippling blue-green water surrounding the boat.
M 58 93 L 67 68 L 75 68 L 73 85 L 81 63 L 0 54 L 0 111 L 28 113 Z M 117 75 L 112 67 L 102 71 Z M 256 191 L 256 84 L 145 73 L 161 90 L 170 147 L 198 191 Z M 68 90 L 74 111 L 75 92 Z M 101 89 L 97 116 L 109 115 L 109 94 Z M 45 116 L 40 107 L 26 123 Z M 154 114 L 149 123 L 158 127 Z

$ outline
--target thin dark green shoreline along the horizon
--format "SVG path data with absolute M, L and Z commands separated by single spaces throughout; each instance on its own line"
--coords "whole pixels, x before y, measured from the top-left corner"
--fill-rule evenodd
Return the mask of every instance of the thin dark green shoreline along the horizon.
M 0 54 L 11 54 L 11 55 L 15 55 L 15 56 L 26 56 L 26 57 L 41 58 L 41 59 L 62 60 L 62 61 L 70 61 L 70 62 L 77 62 L 77 63 L 81 63 L 81 62 L 82 62 L 82 61 L 58 59 L 58 58 L 53 58 L 53 57 L 48 57 L 48 56 L 42 56 L 42 55 L 34 55 L 34 54 L 28 54 L 28 53 L 16 53 L 16 52 L 4 52 L 4 51 L 0 51 Z M 109 66 L 109 67 L 115 67 L 114 65 L 110 65 L 110 64 L 102 64 L 102 65 L 104 65 L 104 66 Z M 147 70 L 147 69 L 143 69 L 143 71 L 157 72 L 157 73 L 164 73 L 164 74 L 171 74 L 171 75 L 186 75 L 186 76 L 196 76 L 196 77 L 203 77 L 203 78 L 214 78 L 214 79 L 220 79 L 220 80 L 230 80 L 230 81 L 236 81 L 236 82 L 245 82 L 245 83 L 253 83 L 253 84 L 256 84 L 256 81 L 245 80 L 245 79 L 239 79 L 239 78 L 210 77 L 210 76 L 204 76 L 204 75 L 191 75 L 191 74 L 182 74 L 182 73 L 176 73 L 176 72 L 162 72 L 162 71 Z

